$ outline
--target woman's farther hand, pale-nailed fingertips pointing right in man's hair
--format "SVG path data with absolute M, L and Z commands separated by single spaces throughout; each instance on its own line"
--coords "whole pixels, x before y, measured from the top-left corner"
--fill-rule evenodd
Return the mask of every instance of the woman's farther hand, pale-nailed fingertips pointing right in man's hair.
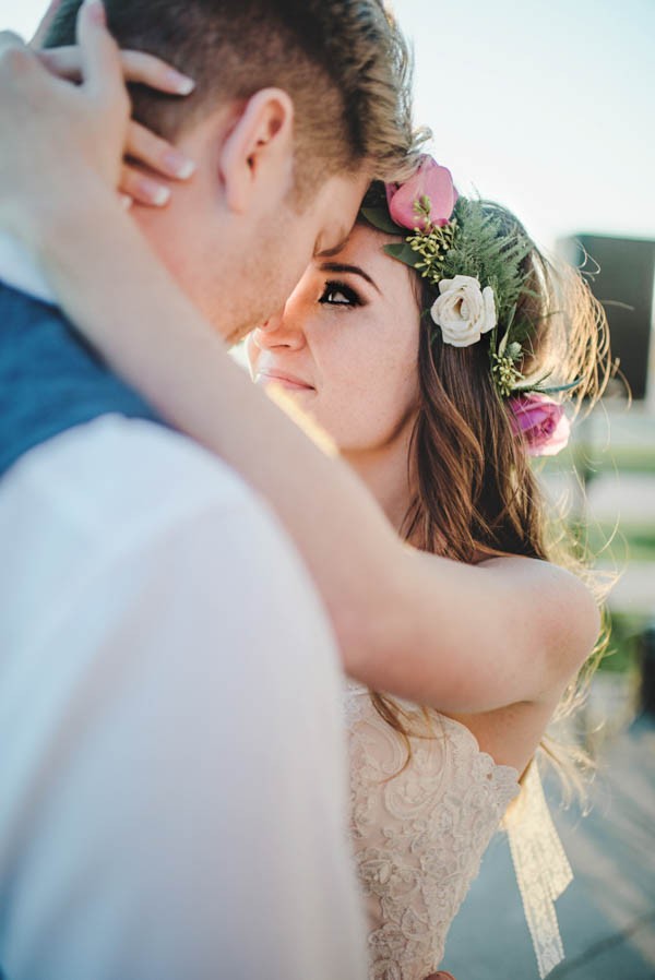
M 79 47 L 40 50 L 61 0 L 52 0 L 29 46 L 37 51 L 40 62 L 60 79 L 80 82 L 82 79 L 82 52 Z M 172 65 L 143 51 L 121 51 L 120 61 L 126 82 L 139 83 L 172 96 L 187 96 L 193 91 L 193 81 Z M 170 195 L 169 188 L 147 176 L 133 164 L 145 165 L 153 174 L 174 180 L 186 180 L 194 166 L 166 140 L 152 133 L 138 122 L 130 122 L 126 140 L 123 167 L 118 184 L 128 200 L 140 204 L 162 206 Z

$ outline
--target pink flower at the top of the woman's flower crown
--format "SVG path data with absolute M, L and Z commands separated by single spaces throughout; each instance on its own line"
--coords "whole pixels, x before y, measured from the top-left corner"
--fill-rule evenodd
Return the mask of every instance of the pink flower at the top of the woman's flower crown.
M 386 184 L 386 203 L 391 217 L 396 225 L 412 231 L 414 228 L 425 231 L 428 225 L 426 217 L 416 214 L 414 205 L 417 201 L 429 198 L 429 222 L 443 226 L 448 225 L 452 216 L 457 196 L 450 170 L 440 167 L 427 153 L 422 154 L 418 169 L 409 180 Z

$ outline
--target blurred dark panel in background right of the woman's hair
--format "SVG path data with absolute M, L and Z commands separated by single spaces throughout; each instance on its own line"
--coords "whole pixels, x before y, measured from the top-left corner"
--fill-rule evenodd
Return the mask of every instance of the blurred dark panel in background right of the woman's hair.
M 577 235 L 561 239 L 558 250 L 581 270 L 592 292 L 605 307 L 611 350 L 630 385 L 632 397 L 646 397 L 653 323 L 655 241 Z M 608 395 L 624 394 L 620 377 Z

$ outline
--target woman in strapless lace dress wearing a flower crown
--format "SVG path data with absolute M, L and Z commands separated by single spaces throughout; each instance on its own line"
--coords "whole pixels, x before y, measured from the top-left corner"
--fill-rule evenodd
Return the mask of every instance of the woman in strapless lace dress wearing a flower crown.
M 10 135 L 23 155 L 55 152 L 26 130 Z M 69 166 L 70 202 L 86 165 L 71 153 Z M 47 170 L 39 180 L 43 200 Z M 63 208 L 55 193 L 50 206 Z M 352 679 L 350 826 L 370 976 L 425 980 L 521 785 L 538 821 L 519 823 L 519 865 L 531 848 L 558 858 L 533 761 L 594 649 L 598 612 L 555 561 L 528 457 L 561 447 L 564 402 L 573 414 L 603 386 L 598 308 L 509 212 L 458 196 L 424 156 L 403 186 L 370 189 L 346 244 L 312 262 L 250 334 L 251 370 L 273 385 L 271 401 L 118 200 L 99 226 L 94 200 L 78 199 L 78 234 L 59 240 L 27 194 L 20 205 L 86 338 L 269 500 L 309 566 Z M 120 322 L 103 302 L 107 282 Z M 557 894 L 565 862 L 546 872 L 561 872 Z M 561 958 L 543 908 L 555 896 L 531 873 L 545 975 Z

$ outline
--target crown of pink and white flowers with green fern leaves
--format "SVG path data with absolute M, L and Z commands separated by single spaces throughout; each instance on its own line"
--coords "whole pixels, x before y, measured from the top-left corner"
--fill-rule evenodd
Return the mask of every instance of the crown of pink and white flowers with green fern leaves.
M 444 344 L 468 347 L 489 335 L 489 360 L 496 391 L 508 399 L 515 433 L 528 454 L 552 455 L 568 441 L 570 423 L 562 405 L 549 395 L 580 384 L 545 387 L 548 374 L 526 379 L 520 369 L 525 342 L 534 327 L 517 321 L 519 299 L 534 296 L 524 260 L 533 244 L 507 231 L 500 214 L 481 201 L 458 195 L 445 167 L 424 155 L 402 184 L 373 186 L 362 217 L 380 231 L 403 235 L 384 246 L 439 290 L 430 308 Z M 410 234 L 407 234 L 409 231 Z

